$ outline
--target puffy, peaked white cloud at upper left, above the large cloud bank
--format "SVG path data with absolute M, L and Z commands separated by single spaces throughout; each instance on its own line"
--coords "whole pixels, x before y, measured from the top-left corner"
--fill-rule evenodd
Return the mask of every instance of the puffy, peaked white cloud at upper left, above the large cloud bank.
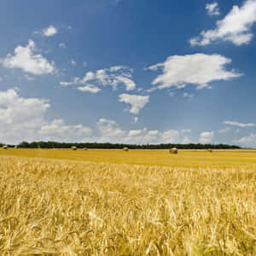
M 43 55 L 36 55 L 36 44 L 29 40 L 28 44 L 15 48 L 14 55 L 7 55 L 3 59 L 3 66 L 8 68 L 20 68 L 26 73 L 42 75 L 55 72 L 55 63 L 49 62 Z

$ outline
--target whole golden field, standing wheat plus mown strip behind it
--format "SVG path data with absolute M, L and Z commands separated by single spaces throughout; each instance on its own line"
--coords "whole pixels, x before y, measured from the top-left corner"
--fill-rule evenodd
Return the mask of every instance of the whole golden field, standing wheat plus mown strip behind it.
M 256 255 L 256 151 L 0 149 L 0 255 Z

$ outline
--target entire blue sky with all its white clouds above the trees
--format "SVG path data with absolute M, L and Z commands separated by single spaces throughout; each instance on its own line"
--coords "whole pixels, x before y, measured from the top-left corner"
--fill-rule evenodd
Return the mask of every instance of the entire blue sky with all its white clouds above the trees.
M 256 0 L 2 0 L 0 142 L 256 147 Z

